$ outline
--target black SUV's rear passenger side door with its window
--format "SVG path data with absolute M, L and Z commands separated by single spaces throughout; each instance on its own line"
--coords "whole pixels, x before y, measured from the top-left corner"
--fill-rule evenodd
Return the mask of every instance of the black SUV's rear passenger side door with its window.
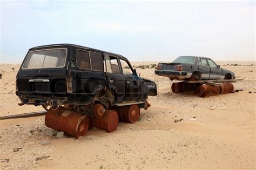
M 125 98 L 125 78 L 122 74 L 118 57 L 104 53 L 107 80 L 110 89 L 116 92 L 116 101 L 124 101 Z

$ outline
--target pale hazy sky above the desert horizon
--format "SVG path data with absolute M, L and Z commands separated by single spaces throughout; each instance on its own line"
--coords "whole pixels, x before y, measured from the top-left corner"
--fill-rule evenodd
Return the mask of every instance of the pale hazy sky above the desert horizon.
M 72 43 L 130 61 L 255 60 L 254 1 L 1 1 L 1 63 Z

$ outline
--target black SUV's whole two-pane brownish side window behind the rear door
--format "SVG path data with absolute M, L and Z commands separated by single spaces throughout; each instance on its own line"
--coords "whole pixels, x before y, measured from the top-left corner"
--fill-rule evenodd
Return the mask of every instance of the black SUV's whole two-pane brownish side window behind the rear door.
M 103 58 L 100 53 L 77 50 L 77 67 L 79 69 L 103 71 Z

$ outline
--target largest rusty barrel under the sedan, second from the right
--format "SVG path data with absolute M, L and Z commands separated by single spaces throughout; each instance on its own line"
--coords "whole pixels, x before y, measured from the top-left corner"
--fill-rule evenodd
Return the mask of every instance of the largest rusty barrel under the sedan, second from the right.
M 199 97 L 208 97 L 208 96 L 215 96 L 220 94 L 220 87 L 219 86 L 210 86 L 210 85 L 199 85 L 197 87 L 196 94 Z

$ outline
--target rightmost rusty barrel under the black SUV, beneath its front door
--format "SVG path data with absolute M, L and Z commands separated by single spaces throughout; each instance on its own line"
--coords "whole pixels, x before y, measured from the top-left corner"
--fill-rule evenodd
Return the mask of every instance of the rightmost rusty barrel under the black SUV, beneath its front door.
M 139 120 L 140 109 L 138 105 L 118 107 L 119 120 L 133 124 Z

